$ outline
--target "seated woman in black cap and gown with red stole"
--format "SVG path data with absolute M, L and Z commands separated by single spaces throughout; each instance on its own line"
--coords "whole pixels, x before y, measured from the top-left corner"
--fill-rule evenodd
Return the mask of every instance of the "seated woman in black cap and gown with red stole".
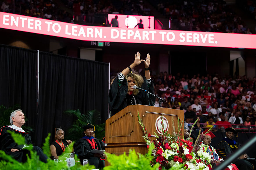
M 87 159 L 90 165 L 94 165 L 96 169 L 103 169 L 105 165 L 104 154 L 93 154 L 93 149 L 105 150 L 105 143 L 93 137 L 94 126 L 91 124 L 84 125 L 84 137 L 79 139 L 74 145 L 74 151 L 80 158 L 82 164 Z

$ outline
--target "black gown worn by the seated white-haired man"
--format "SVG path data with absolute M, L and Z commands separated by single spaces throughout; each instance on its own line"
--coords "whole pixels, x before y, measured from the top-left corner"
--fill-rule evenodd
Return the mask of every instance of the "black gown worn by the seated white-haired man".
M 32 144 L 30 135 L 26 132 L 20 132 L 8 126 L 3 126 L 0 132 L 1 150 L 3 150 L 6 154 L 12 156 L 18 162 L 26 162 L 27 160 L 26 154 L 30 156 L 30 151 L 28 151 L 27 149 L 22 149 L 23 145 L 17 145 L 17 143 L 14 142 L 11 134 L 8 133 L 7 130 L 10 130 L 12 132 L 15 132 L 23 136 L 25 138 L 26 145 Z M 12 148 L 18 149 L 18 150 L 21 149 L 21 150 L 16 152 L 11 152 Z M 39 155 L 39 159 L 42 162 L 47 162 L 47 156 L 43 153 L 41 148 L 39 148 L 38 146 L 33 146 L 33 150 L 37 152 L 37 155 Z

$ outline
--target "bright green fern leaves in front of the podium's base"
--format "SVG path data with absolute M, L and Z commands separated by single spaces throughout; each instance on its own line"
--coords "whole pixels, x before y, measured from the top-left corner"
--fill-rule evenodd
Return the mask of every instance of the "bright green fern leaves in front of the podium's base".
M 149 147 L 149 153 L 146 155 L 136 153 L 135 150 L 131 149 L 128 156 L 125 153 L 120 156 L 106 153 L 107 161 L 111 165 L 104 167 L 104 170 L 158 170 L 158 163 L 154 167 L 150 165 L 150 161 L 153 159 L 151 155 L 153 148 L 154 144 L 152 143 Z

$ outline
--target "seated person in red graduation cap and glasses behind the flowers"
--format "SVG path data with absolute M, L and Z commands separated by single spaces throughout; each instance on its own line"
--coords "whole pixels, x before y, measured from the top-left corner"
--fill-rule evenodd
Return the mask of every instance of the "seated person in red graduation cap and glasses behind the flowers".
M 208 130 L 203 131 L 202 133 L 205 134 L 206 132 L 208 132 Z M 217 162 L 216 163 L 220 163 L 221 161 L 223 161 L 223 159 L 219 158 L 219 155 L 217 154 L 216 150 L 212 147 L 212 145 L 210 145 L 210 143 L 212 142 L 212 138 L 216 137 L 212 132 L 208 132 L 207 134 L 205 134 L 205 137 L 203 139 L 203 144 L 208 145 L 209 147 L 206 149 L 206 151 L 210 154 L 212 151 L 212 159 L 215 159 Z

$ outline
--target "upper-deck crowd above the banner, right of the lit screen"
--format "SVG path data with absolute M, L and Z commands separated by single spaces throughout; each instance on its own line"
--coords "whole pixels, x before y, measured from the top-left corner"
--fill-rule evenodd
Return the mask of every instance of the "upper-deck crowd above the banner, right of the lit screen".
M 224 0 L 168 0 L 157 6 L 179 30 L 252 34 Z

